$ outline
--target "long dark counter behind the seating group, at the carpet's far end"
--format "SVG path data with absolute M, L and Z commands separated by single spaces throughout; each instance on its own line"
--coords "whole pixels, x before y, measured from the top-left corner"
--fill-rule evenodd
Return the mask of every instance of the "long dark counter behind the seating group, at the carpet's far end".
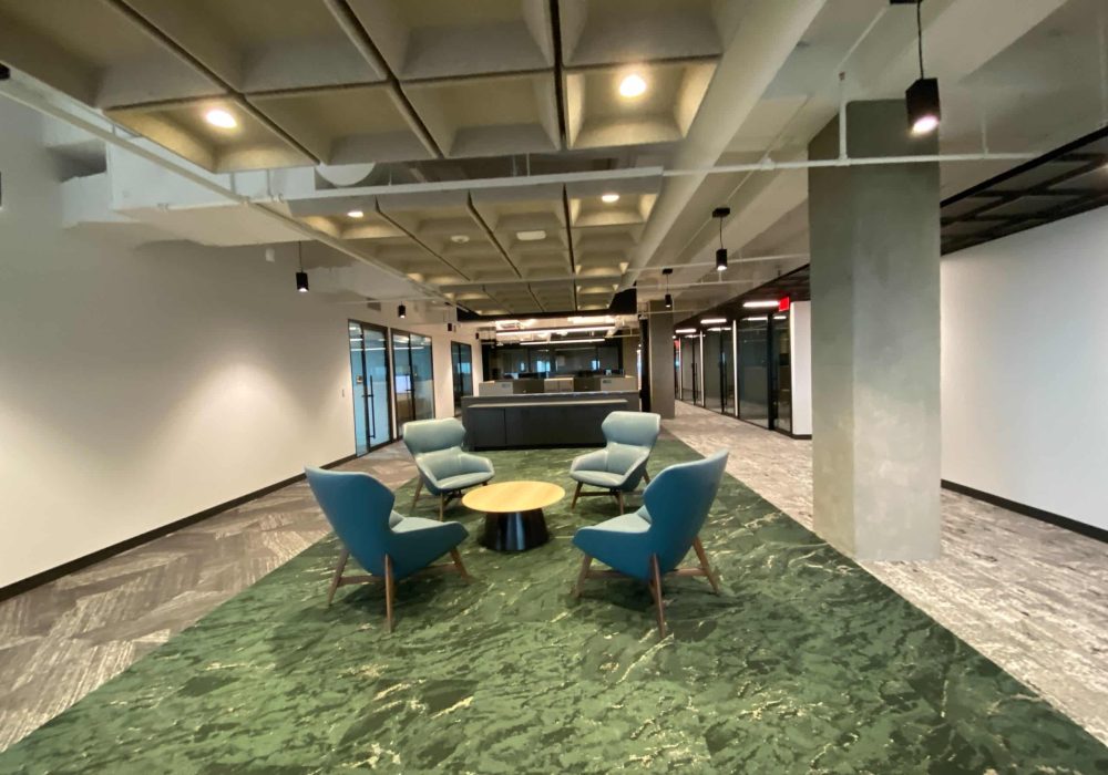
M 471 450 L 603 446 L 601 423 L 615 411 L 638 411 L 638 393 L 517 393 L 462 399 L 462 423 Z

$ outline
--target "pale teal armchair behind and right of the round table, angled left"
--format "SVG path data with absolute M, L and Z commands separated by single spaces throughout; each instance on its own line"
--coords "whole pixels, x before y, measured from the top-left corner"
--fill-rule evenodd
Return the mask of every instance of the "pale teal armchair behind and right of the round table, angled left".
M 570 508 L 577 498 L 588 495 L 612 495 L 624 510 L 624 494 L 633 493 L 645 477 L 647 461 L 661 433 L 661 415 L 653 412 L 612 412 L 601 424 L 607 446 L 581 455 L 570 466 L 570 477 L 577 483 Z M 602 487 L 602 493 L 582 493 L 584 485 Z

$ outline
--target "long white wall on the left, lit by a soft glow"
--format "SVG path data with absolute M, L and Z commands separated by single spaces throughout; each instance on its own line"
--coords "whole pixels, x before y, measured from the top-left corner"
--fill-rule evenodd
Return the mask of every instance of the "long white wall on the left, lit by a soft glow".
M 346 321 L 394 322 L 297 293 L 288 250 L 63 230 L 41 132 L 0 101 L 0 586 L 352 454 Z M 450 416 L 449 334 L 406 328 Z

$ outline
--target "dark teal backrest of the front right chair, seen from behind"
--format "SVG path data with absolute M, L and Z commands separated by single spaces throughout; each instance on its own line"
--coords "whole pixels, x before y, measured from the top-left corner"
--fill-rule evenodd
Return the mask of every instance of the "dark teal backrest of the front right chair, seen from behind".
M 716 500 L 727 450 L 664 469 L 647 485 L 643 504 L 650 516 L 648 542 L 661 572 L 677 567 L 693 547 Z

